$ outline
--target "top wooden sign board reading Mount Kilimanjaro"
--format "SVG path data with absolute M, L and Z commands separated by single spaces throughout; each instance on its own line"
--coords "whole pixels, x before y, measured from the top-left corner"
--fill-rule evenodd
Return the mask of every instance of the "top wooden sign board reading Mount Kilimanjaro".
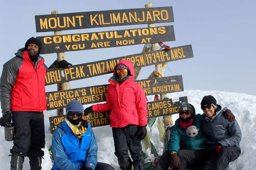
M 35 16 L 36 32 L 174 22 L 172 7 Z

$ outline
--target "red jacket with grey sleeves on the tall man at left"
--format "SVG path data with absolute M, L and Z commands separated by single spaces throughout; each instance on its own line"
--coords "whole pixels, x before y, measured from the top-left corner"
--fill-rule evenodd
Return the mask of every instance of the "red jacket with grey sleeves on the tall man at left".
M 28 52 L 18 50 L 3 66 L 0 83 L 2 110 L 42 112 L 46 109 L 44 58 L 33 65 Z M 36 67 L 36 68 L 35 68 Z

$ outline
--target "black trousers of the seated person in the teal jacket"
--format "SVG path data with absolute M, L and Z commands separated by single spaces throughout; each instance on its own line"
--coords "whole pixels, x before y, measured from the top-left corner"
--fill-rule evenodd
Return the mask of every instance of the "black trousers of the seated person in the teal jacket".
M 187 149 L 179 150 L 178 158 L 180 160 L 180 166 L 179 168 L 173 168 L 173 170 L 186 170 L 186 168 L 200 169 L 207 160 L 205 151 Z M 166 150 L 152 170 L 167 170 L 170 165 L 171 156 L 169 150 Z

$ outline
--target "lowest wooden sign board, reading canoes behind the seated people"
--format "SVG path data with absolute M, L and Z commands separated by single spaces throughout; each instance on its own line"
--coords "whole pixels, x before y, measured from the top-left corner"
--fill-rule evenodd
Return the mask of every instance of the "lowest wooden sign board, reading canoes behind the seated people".
M 183 102 L 188 103 L 187 96 L 175 99 L 159 100 L 147 103 L 148 118 L 173 115 L 179 113 L 179 108 Z M 110 111 L 89 113 L 86 119 L 92 128 L 110 125 Z M 57 125 L 65 120 L 66 115 L 49 117 L 51 132 L 57 128 Z

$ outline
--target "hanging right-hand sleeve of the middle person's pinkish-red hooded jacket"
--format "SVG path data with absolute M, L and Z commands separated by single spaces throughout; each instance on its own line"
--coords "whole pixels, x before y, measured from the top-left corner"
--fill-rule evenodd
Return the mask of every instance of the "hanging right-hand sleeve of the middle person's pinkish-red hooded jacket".
M 148 125 L 147 99 L 142 87 L 139 85 L 136 93 L 136 105 L 139 114 L 139 126 Z

